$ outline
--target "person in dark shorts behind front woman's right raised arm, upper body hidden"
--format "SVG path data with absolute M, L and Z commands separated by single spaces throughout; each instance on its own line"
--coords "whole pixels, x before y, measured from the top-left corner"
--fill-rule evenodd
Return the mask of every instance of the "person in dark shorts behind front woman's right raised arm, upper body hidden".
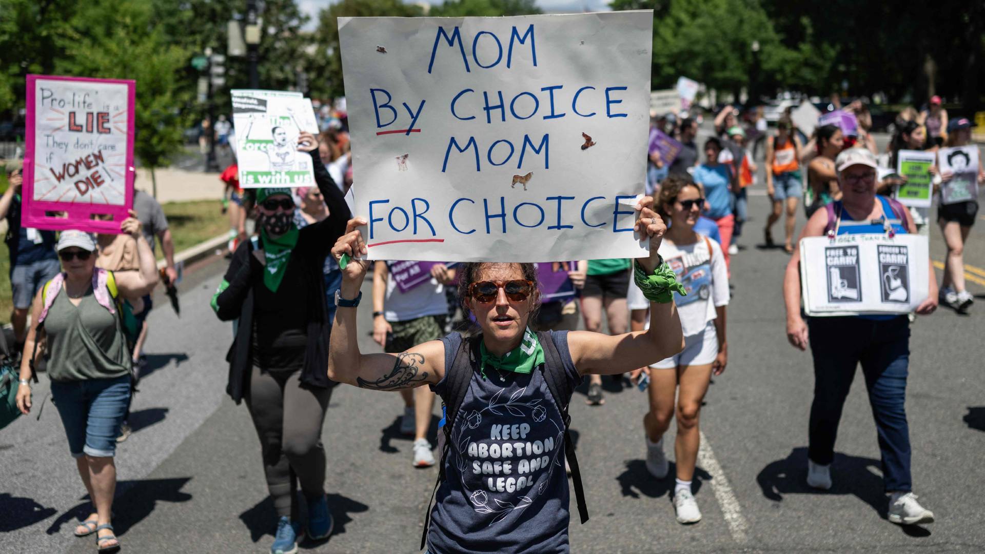
M 609 334 L 621 335 L 628 327 L 628 310 L 625 295 L 629 290 L 631 262 L 626 258 L 590 259 L 581 289 L 581 314 L 585 330 L 593 333 L 602 330 L 602 312 L 605 310 Z M 622 376 L 614 375 L 622 381 Z M 591 406 L 606 403 L 602 396 L 602 374 L 588 376 L 588 396 L 585 402 Z

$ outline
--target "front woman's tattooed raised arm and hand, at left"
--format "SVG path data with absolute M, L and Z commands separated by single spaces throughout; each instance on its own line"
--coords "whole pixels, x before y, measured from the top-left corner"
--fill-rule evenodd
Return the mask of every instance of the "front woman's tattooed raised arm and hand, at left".
M 359 297 L 362 280 L 370 262 L 355 259 L 366 254 L 358 228 L 362 218 L 349 221 L 347 233 L 332 247 L 337 261 L 342 254 L 351 259 L 342 270 L 339 296 L 352 301 Z M 444 377 L 444 343 L 439 340 L 419 344 L 400 354 L 362 354 L 356 326 L 356 308 L 340 306 L 335 312 L 332 341 L 328 349 L 328 378 L 370 390 L 400 390 L 436 384 Z

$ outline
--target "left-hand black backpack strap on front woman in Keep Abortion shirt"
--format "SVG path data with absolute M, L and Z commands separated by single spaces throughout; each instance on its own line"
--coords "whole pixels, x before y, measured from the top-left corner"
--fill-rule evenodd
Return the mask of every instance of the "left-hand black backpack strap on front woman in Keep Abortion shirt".
M 482 340 L 482 335 L 469 339 L 463 337 L 458 345 L 458 351 L 455 352 L 455 358 L 451 366 L 444 369 L 446 392 L 444 395 L 445 401 L 441 405 L 441 421 L 438 422 L 437 433 L 437 450 L 441 452 L 441 455 L 438 461 L 437 479 L 434 481 L 434 489 L 431 491 L 430 498 L 427 500 L 425 528 L 421 534 L 422 550 L 427 545 L 427 530 L 430 524 L 430 509 L 434 502 L 434 493 L 437 492 L 437 487 L 446 477 L 445 462 L 448 457 L 448 450 L 452 444 L 451 430 L 454 428 L 455 420 L 458 418 L 458 409 L 462 407 L 462 402 L 465 401 L 465 394 L 469 390 L 469 383 L 472 382 L 472 374 L 474 372 L 472 362 L 476 357 L 475 353 L 479 351 L 480 340 Z

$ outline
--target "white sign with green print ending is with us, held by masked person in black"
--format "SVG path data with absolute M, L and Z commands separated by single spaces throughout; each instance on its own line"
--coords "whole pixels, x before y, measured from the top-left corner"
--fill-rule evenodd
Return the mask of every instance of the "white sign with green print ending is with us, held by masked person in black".
M 311 157 L 297 151 L 301 131 L 318 133 L 311 101 L 288 91 L 230 91 L 239 185 L 313 186 Z

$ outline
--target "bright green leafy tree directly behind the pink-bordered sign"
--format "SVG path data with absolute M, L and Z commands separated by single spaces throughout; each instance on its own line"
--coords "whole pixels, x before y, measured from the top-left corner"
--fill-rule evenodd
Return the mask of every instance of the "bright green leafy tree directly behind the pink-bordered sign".
M 167 166 L 182 145 L 188 99 L 176 93 L 189 52 L 154 25 L 149 4 L 140 0 L 97 0 L 86 5 L 58 38 L 62 75 L 133 79 L 136 86 L 134 154 L 151 170 Z M 157 182 L 154 183 L 155 188 Z

